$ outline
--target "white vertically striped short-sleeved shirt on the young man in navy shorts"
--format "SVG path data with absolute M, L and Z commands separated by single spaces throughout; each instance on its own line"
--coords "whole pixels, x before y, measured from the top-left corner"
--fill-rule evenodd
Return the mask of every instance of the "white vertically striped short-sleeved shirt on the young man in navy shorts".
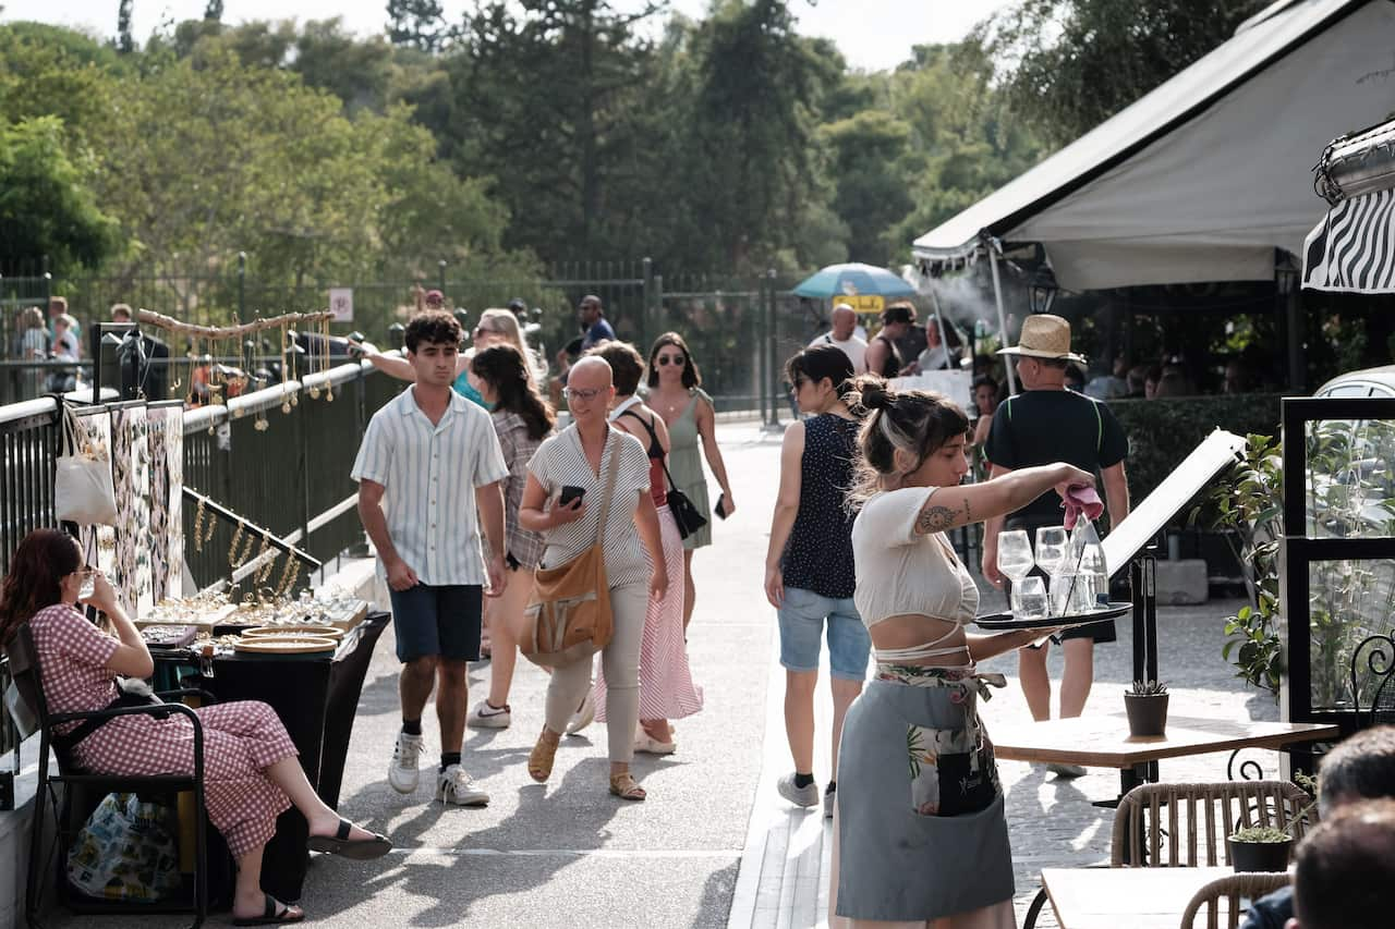
M 485 583 L 474 490 L 508 474 L 488 413 L 452 392 L 432 425 L 413 386 L 372 414 L 352 477 L 386 488 L 392 544 L 435 587 Z

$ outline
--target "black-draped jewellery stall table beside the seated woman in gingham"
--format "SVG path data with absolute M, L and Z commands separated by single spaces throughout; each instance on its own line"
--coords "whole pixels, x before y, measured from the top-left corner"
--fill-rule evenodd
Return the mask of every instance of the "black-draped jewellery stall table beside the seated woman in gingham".
M 177 675 L 188 685 L 204 688 L 219 703 L 268 703 L 276 710 L 300 752 L 300 764 L 311 787 L 329 806 L 336 806 L 359 695 L 372 650 L 389 618 L 391 614 L 386 612 L 370 612 L 332 657 L 218 654 L 212 660 L 212 675 L 202 677 L 198 660 L 179 651 L 170 656 L 156 654 L 156 674 Z M 215 837 L 216 831 L 211 830 L 209 836 Z M 308 827 L 299 810 L 289 809 L 276 820 L 276 836 L 266 844 L 262 855 L 262 889 L 266 893 L 283 901 L 300 900 L 310 861 L 307 837 Z M 211 854 L 209 862 L 226 859 L 222 838 L 211 841 L 223 851 L 220 858 Z

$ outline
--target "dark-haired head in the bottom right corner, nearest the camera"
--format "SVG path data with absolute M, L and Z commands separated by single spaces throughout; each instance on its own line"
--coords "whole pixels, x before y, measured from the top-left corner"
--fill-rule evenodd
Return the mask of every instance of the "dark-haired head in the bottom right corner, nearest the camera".
M 1395 801 L 1343 806 L 1303 838 L 1288 929 L 1385 929 L 1395 883 Z

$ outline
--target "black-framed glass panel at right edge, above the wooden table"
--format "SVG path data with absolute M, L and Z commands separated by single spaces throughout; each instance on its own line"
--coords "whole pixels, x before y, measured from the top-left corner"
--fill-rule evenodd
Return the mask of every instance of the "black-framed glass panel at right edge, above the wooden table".
M 1395 667 L 1395 399 L 1283 400 L 1285 718 L 1371 721 Z

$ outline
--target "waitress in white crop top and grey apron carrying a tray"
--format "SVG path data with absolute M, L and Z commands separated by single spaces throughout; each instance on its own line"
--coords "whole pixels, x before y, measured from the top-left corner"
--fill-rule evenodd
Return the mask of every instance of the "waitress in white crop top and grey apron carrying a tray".
M 967 635 L 978 587 L 944 531 L 1095 481 L 1056 463 L 961 487 L 961 409 L 877 377 L 861 378 L 852 400 L 866 410 L 854 601 L 877 668 L 843 731 L 829 925 L 1013 929 L 1003 791 L 978 717 L 979 695 L 1006 681 L 975 663 L 1053 630 Z

